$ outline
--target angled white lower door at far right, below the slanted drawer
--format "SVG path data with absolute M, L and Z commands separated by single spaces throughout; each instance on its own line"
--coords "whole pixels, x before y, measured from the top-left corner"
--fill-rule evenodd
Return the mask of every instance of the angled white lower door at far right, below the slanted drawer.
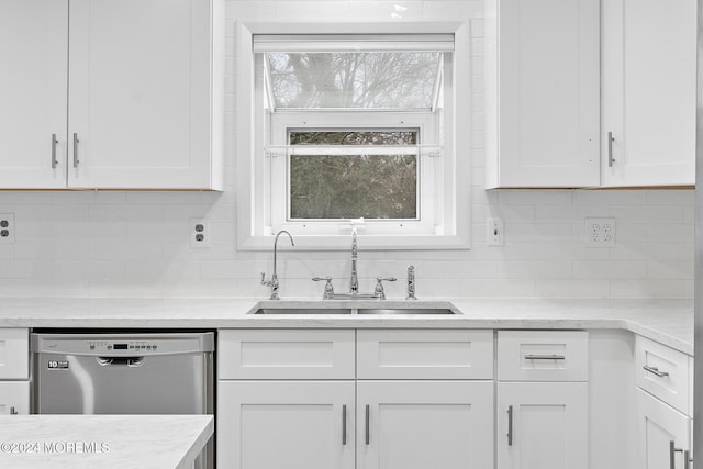
M 688 469 L 682 451 L 690 450 L 690 421 L 687 415 L 637 388 L 637 467 L 668 469 L 673 457 L 676 469 Z

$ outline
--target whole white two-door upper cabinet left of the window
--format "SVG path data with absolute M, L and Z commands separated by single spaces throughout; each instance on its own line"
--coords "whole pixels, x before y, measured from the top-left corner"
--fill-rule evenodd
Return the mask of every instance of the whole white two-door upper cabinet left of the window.
M 0 187 L 221 189 L 221 5 L 3 2 Z

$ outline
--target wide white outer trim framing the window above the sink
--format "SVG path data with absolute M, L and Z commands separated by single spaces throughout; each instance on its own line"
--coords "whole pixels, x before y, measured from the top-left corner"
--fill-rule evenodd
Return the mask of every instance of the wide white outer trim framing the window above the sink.
M 253 54 L 254 34 L 417 34 L 449 33 L 455 36 L 454 103 L 445 108 L 445 116 L 454 120 L 455 134 L 443 142 L 443 160 L 446 174 L 454 175 L 451 183 L 443 188 L 445 213 L 451 214 L 443 235 L 434 234 L 364 234 L 359 236 L 359 247 L 364 249 L 466 249 L 470 243 L 469 193 L 470 183 L 470 137 L 464 130 L 470 129 L 470 52 L 468 21 L 438 22 L 343 22 L 310 23 L 294 21 L 241 21 L 237 22 L 237 248 L 243 250 L 270 249 L 270 221 L 265 220 L 261 210 L 268 201 L 269 187 L 263 181 L 266 158 L 257 157 L 258 133 L 253 115 L 255 102 L 261 102 L 261 96 L 252 93 L 255 79 Z M 447 77 L 445 77 L 447 79 Z M 256 87 L 261 89 L 263 87 Z M 256 101 L 258 100 L 258 101 Z M 260 155 L 260 154 L 258 154 Z M 259 183 L 257 183 L 259 181 Z M 446 219 L 445 219 L 446 221 Z M 348 249 L 348 234 L 339 235 L 295 235 L 295 247 L 303 250 Z

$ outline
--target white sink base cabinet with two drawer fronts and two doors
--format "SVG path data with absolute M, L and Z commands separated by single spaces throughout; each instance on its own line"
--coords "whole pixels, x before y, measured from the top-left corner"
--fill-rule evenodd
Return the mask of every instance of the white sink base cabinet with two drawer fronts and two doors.
M 217 354 L 217 467 L 493 468 L 490 330 L 223 330 Z

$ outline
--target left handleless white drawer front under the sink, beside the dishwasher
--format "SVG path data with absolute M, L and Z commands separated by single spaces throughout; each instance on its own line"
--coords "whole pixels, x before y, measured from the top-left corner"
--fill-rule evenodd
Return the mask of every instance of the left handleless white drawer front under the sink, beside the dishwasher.
M 224 330 L 220 379 L 354 379 L 354 330 Z

